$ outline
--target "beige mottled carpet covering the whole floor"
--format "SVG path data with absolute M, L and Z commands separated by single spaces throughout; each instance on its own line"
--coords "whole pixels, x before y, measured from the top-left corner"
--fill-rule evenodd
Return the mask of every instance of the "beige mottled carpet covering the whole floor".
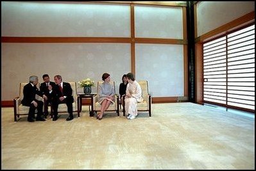
M 1 109 L 2 169 L 255 169 L 255 119 L 189 102 L 153 104 L 152 117 L 108 113 L 67 122 L 13 122 Z

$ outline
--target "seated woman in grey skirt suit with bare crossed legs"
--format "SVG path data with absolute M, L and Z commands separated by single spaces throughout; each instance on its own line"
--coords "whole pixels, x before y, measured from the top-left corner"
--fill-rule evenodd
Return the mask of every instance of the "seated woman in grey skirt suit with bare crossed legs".
M 104 73 L 102 75 L 102 80 L 104 81 L 99 85 L 99 103 L 101 104 L 101 112 L 97 115 L 97 119 L 101 120 L 103 113 L 108 109 L 111 103 L 115 101 L 114 95 L 114 85 L 110 85 L 110 74 Z

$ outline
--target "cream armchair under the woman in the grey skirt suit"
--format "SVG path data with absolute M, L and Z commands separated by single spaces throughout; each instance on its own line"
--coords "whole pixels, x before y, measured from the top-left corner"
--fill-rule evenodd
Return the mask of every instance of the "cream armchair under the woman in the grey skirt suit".
M 102 84 L 104 81 L 98 81 L 98 85 L 97 85 L 97 94 L 96 96 L 93 97 L 93 113 L 96 113 L 97 115 L 97 111 L 101 111 L 101 104 L 99 104 L 98 102 L 98 97 L 99 97 L 99 85 Z M 114 85 L 114 90 L 115 90 L 115 82 L 114 81 L 110 81 L 110 84 Z M 119 97 L 117 94 L 115 94 L 115 102 L 114 104 L 110 104 L 110 106 L 108 107 L 107 111 L 115 111 L 117 113 L 117 116 L 119 116 Z

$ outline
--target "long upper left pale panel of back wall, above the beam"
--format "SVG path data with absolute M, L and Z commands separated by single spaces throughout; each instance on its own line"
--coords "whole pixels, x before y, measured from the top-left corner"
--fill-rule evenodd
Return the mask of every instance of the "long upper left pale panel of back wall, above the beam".
M 130 37 L 130 6 L 1 2 L 3 37 Z

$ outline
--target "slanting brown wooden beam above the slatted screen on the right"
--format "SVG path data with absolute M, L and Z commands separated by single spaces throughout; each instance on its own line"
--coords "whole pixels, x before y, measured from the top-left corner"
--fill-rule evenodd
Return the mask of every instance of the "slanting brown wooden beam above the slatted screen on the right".
M 225 34 L 226 31 L 230 31 L 237 26 L 241 26 L 243 24 L 250 24 L 255 22 L 255 11 L 247 13 L 246 15 L 243 15 L 242 17 L 239 17 L 238 19 L 235 19 L 231 22 L 228 22 L 224 24 L 223 26 L 220 26 L 219 28 L 213 29 L 212 31 L 209 31 L 208 33 L 205 33 L 204 35 L 201 35 L 200 37 L 196 38 L 196 42 L 205 42 L 209 40 L 210 38 L 220 36 L 221 34 Z

